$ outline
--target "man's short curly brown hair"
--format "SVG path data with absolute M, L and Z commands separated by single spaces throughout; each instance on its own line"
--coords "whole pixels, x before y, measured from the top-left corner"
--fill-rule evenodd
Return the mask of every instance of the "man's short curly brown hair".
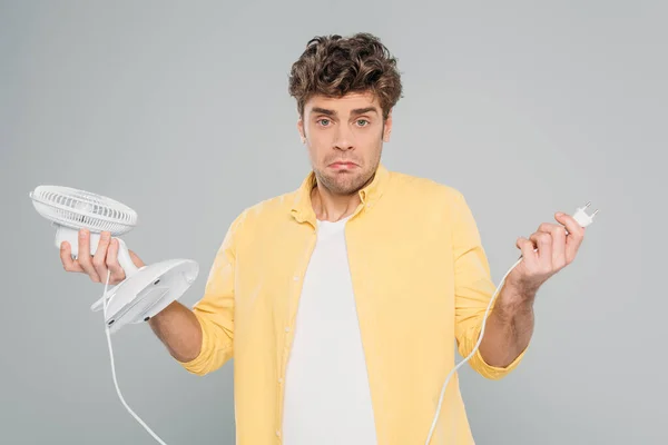
M 333 34 L 311 39 L 292 66 L 288 91 L 297 101 L 299 116 L 314 95 L 342 97 L 348 92 L 372 92 L 386 119 L 402 97 L 402 85 L 396 58 L 377 37 L 358 32 L 347 38 Z

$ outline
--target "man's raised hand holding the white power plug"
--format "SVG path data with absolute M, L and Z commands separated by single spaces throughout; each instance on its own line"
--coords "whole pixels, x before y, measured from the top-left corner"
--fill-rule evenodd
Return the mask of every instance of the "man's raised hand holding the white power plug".
M 543 222 L 529 239 L 518 238 L 523 259 L 505 278 L 518 297 L 533 298 L 548 278 L 576 259 L 584 229 L 570 215 L 558 212 L 554 219 L 560 224 Z

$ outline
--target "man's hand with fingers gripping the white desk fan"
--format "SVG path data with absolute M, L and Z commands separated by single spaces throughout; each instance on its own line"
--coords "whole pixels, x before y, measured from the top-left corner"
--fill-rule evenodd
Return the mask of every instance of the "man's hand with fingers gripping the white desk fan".
M 144 261 L 129 250 L 130 258 L 137 267 L 144 267 Z M 90 234 L 86 229 L 79 230 L 79 256 L 72 258 L 71 246 L 63 241 L 60 245 L 60 259 L 67 271 L 86 274 L 94 283 L 106 283 L 107 271 L 110 271 L 109 285 L 116 286 L 126 278 L 126 274 L 118 263 L 118 240 L 111 238 L 109 231 L 100 234 L 100 241 L 94 256 L 90 255 Z

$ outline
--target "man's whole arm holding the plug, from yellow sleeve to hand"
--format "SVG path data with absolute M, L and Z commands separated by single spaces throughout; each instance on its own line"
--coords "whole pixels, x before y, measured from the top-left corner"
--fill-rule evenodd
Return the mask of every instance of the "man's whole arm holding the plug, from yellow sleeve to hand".
M 462 357 L 480 339 L 483 317 L 497 290 L 478 226 L 464 197 L 450 200 L 455 297 L 455 336 Z M 483 338 L 469 365 L 485 378 L 499 379 L 521 362 L 533 334 L 533 301 L 539 287 L 574 258 L 583 229 L 557 214 L 560 225 L 542 224 L 529 239 L 518 239 L 523 259 L 508 274 L 488 314 Z M 564 227 L 570 235 L 566 236 Z

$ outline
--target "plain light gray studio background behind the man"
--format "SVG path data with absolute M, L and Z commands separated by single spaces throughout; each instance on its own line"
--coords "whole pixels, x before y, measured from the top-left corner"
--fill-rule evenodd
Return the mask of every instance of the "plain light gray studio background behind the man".
M 0 443 L 154 443 L 114 389 L 89 310 L 102 287 L 63 273 L 28 192 L 56 184 L 124 201 L 139 212 L 126 240 L 143 259 L 206 271 L 243 208 L 307 172 L 291 63 L 313 36 L 355 31 L 379 34 L 403 72 L 384 162 L 468 197 L 494 279 L 515 238 L 554 211 L 601 209 L 578 260 L 542 288 L 522 366 L 501 382 L 463 370 L 478 443 L 668 442 L 655 200 L 666 7 L 439 3 L 1 3 Z M 230 365 L 190 376 L 147 326 L 114 348 L 126 400 L 168 444 L 233 443 Z

